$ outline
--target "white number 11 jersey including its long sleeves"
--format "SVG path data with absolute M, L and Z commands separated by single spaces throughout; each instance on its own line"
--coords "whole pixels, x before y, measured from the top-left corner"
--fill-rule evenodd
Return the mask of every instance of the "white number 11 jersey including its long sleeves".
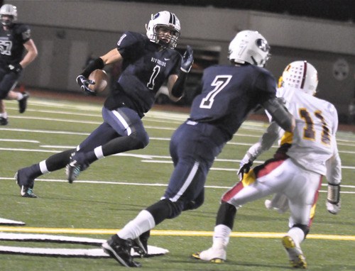
M 277 96 L 285 100 L 285 106 L 295 117 L 295 130 L 288 133 L 271 123 L 259 142 L 249 149 L 249 157 L 255 159 L 282 136 L 280 145 L 290 144 L 286 154 L 296 165 L 326 175 L 329 183 L 339 184 L 342 174 L 335 136 L 337 109 L 328 101 L 290 87 L 278 89 Z

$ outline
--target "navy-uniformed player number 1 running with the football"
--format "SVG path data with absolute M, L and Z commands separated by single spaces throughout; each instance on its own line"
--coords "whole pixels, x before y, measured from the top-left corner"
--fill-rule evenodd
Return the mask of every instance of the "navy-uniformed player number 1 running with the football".
M 141 118 L 153 106 L 155 93 L 165 80 L 168 80 L 170 99 L 181 98 L 193 53 L 188 45 L 183 56 L 174 50 L 180 35 L 180 21 L 174 13 L 160 11 L 152 15 L 146 30 L 146 35 L 133 32 L 121 35 L 116 48 L 90 62 L 77 77 L 81 89 L 94 94 L 89 89 L 93 83 L 87 79 L 89 74 L 114 62 L 122 65 L 116 87 L 102 108 L 104 122 L 76 149 L 18 170 L 15 177 L 22 197 L 36 197 L 32 189 L 34 179 L 40 175 L 66 167 L 67 179 L 73 182 L 98 159 L 148 145 Z

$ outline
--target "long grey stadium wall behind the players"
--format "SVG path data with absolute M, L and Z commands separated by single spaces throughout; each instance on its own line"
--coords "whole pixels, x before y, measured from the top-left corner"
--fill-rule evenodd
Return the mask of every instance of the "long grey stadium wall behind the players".
M 228 62 L 228 44 L 244 29 L 260 31 L 271 44 L 268 69 L 275 77 L 294 60 L 317 68 L 320 94 L 346 118 L 355 96 L 355 25 L 313 18 L 162 4 L 115 1 L 4 1 L 18 7 L 18 21 L 32 28 L 38 59 L 26 69 L 23 83 L 43 89 L 79 91 L 75 77 L 89 55 L 116 46 L 121 33 L 145 33 L 151 13 L 169 10 L 182 26 L 180 48 L 219 48 L 219 63 Z

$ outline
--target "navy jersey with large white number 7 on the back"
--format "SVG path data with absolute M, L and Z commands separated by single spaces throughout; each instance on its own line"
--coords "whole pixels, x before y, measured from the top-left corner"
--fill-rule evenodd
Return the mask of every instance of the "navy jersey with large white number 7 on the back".
M 230 140 L 248 114 L 275 94 L 275 78 L 261 67 L 214 65 L 204 70 L 189 119 L 218 126 Z

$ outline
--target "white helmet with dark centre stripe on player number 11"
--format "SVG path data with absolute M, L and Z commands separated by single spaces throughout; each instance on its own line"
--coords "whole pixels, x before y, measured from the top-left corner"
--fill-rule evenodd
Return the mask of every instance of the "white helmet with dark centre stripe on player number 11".
M 305 60 L 292 62 L 283 71 L 281 85 L 315 95 L 318 85 L 317 70 Z

